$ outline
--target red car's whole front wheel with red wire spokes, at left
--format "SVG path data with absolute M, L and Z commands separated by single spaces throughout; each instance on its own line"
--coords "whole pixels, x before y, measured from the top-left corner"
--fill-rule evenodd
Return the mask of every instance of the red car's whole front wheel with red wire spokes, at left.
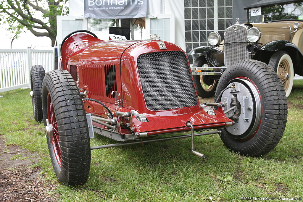
M 84 184 L 91 161 L 88 125 L 80 93 L 68 71 L 45 74 L 42 107 L 45 129 L 49 124 L 53 129 L 46 130 L 46 135 L 58 180 L 68 186 Z

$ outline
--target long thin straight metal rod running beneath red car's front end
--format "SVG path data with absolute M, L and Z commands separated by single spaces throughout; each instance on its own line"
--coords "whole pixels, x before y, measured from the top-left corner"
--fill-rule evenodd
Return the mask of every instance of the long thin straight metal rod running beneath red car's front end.
M 222 133 L 221 130 L 217 130 L 217 131 L 208 131 L 208 132 L 203 132 L 203 133 L 195 133 L 194 136 L 221 134 L 221 133 Z M 93 150 L 93 149 L 103 149 L 103 148 L 108 148 L 108 147 L 119 147 L 119 146 L 132 145 L 132 144 L 142 144 L 142 143 L 148 143 L 148 142 L 157 142 L 157 141 L 163 141 L 163 140 L 173 140 L 173 139 L 179 139 L 179 138 L 185 138 L 185 137 L 191 137 L 191 134 L 179 135 L 179 136 L 173 136 L 173 137 L 162 137 L 162 138 L 150 139 L 150 140 L 142 140 L 141 139 L 142 141 L 134 141 L 134 142 L 106 144 L 106 145 L 91 147 L 91 150 Z

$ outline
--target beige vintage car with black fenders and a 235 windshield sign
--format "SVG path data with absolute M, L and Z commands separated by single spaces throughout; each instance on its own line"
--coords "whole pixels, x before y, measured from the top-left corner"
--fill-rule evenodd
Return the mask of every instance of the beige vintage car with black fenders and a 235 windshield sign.
M 295 3 L 293 3 L 295 2 Z M 191 71 L 200 97 L 215 94 L 222 72 L 235 61 L 254 59 L 275 69 L 288 97 L 294 75 L 303 75 L 303 1 L 262 0 L 248 5 L 247 23 L 237 22 L 224 32 L 224 39 L 211 32 L 211 46 L 200 46 Z

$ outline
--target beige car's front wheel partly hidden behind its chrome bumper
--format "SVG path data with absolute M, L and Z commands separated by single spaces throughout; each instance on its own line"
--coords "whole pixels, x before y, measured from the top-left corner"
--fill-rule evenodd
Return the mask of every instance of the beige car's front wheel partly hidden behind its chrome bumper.
M 201 56 L 195 60 L 193 67 L 209 67 L 209 65 L 205 57 Z M 192 77 L 199 97 L 210 98 L 214 96 L 218 84 L 217 80 L 205 75 L 192 75 Z

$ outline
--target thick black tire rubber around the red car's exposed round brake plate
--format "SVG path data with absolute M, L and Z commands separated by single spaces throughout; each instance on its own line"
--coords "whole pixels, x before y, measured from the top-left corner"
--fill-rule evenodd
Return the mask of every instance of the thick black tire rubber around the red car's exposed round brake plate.
M 244 72 L 244 74 L 243 74 Z M 223 133 L 220 137 L 230 150 L 249 156 L 260 156 L 271 151 L 280 141 L 287 121 L 287 100 L 278 75 L 265 63 L 255 60 L 238 61 L 232 64 L 220 78 L 218 86 L 241 75 L 253 75 L 258 82 L 262 101 L 261 125 L 254 137 L 238 141 Z M 215 98 L 225 86 L 217 88 Z

